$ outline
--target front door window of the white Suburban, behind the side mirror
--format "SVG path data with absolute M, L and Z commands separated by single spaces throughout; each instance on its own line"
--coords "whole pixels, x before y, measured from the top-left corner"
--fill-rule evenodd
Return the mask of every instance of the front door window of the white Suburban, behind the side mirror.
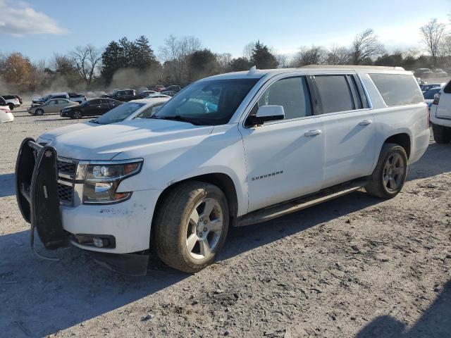
M 290 77 L 274 82 L 260 96 L 258 104 L 283 106 L 285 120 L 310 116 L 310 96 L 305 77 Z

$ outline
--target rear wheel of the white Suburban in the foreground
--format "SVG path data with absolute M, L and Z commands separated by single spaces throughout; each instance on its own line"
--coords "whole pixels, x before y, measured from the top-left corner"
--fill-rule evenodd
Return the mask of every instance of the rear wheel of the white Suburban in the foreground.
M 406 177 L 406 151 L 398 144 L 385 143 L 365 190 L 381 199 L 393 199 L 404 186 Z

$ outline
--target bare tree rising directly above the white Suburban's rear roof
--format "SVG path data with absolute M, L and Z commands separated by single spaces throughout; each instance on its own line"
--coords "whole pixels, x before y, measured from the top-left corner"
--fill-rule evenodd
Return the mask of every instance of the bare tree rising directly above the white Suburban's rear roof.
M 383 44 L 378 41 L 374 31 L 369 28 L 356 35 L 352 42 L 352 63 L 361 65 L 371 63 L 373 58 L 385 52 Z

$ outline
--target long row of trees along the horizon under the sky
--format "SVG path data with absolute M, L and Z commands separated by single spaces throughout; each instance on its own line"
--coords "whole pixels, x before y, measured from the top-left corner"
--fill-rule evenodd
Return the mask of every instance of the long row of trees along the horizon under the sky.
M 138 87 L 156 83 L 185 84 L 230 71 L 299 67 L 309 64 L 400 65 L 406 69 L 451 66 L 451 35 L 433 19 L 420 27 L 423 50 L 388 53 L 371 29 L 354 37 L 350 46 L 302 46 L 295 56 L 277 54 L 264 43 L 250 42 L 243 55 L 216 54 L 196 37 L 170 36 L 158 56 L 144 36 L 123 37 L 104 49 L 92 44 L 68 54 L 54 54 L 49 61 L 32 63 L 20 53 L 0 54 L 0 90 L 39 90 Z M 426 52 L 426 53 L 424 53 Z

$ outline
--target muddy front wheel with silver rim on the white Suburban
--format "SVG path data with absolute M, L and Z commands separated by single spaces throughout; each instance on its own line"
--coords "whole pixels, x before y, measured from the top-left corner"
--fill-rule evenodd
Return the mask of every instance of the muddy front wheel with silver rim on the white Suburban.
M 221 250 L 228 223 L 228 201 L 221 189 L 204 182 L 181 183 L 156 215 L 156 253 L 172 268 L 197 273 Z

